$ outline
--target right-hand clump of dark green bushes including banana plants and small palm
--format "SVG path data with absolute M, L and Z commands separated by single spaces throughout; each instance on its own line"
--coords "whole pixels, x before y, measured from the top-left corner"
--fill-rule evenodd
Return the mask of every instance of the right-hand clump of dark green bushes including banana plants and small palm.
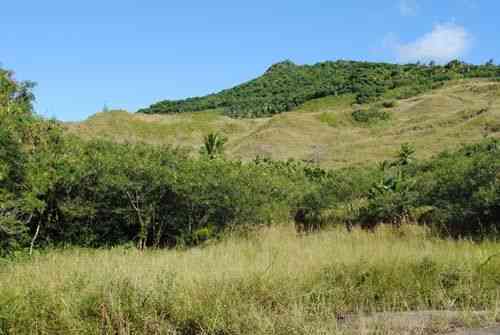
M 412 159 L 404 145 L 384 164 L 385 177 L 374 184 L 361 208 L 361 222 L 400 224 L 417 220 L 452 236 L 482 237 L 500 231 L 500 144 L 486 140 L 427 162 Z M 418 213 L 418 215 L 413 215 Z

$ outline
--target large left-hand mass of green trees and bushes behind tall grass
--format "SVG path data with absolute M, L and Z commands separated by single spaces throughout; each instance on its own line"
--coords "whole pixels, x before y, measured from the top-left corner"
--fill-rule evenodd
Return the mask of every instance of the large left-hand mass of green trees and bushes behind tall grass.
M 215 159 L 217 135 L 199 160 L 168 147 L 82 142 L 9 94 L 1 119 L 4 255 L 28 246 L 197 244 L 229 225 L 283 220 L 306 183 L 300 173 Z

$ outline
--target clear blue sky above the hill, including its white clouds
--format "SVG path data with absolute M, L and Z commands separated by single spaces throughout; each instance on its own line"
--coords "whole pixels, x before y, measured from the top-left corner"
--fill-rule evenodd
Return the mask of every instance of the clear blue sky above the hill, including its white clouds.
M 0 63 L 37 111 L 81 120 L 204 95 L 274 62 L 500 61 L 495 0 L 25 0 L 0 6 Z

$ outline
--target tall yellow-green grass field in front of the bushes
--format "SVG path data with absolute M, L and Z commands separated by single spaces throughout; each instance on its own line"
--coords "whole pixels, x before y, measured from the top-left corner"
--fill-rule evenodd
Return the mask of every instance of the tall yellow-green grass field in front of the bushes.
M 388 334 L 339 320 L 494 315 L 499 247 L 411 226 L 308 236 L 281 227 L 187 251 L 52 251 L 0 265 L 0 334 Z

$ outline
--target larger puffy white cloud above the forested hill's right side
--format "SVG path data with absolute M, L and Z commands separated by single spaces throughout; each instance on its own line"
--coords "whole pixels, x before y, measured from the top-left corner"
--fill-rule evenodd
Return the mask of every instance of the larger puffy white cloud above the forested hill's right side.
M 393 40 L 394 41 L 394 40 Z M 470 48 L 471 35 L 454 23 L 437 24 L 434 29 L 414 42 L 392 42 L 402 62 L 436 61 L 445 63 L 462 57 Z

